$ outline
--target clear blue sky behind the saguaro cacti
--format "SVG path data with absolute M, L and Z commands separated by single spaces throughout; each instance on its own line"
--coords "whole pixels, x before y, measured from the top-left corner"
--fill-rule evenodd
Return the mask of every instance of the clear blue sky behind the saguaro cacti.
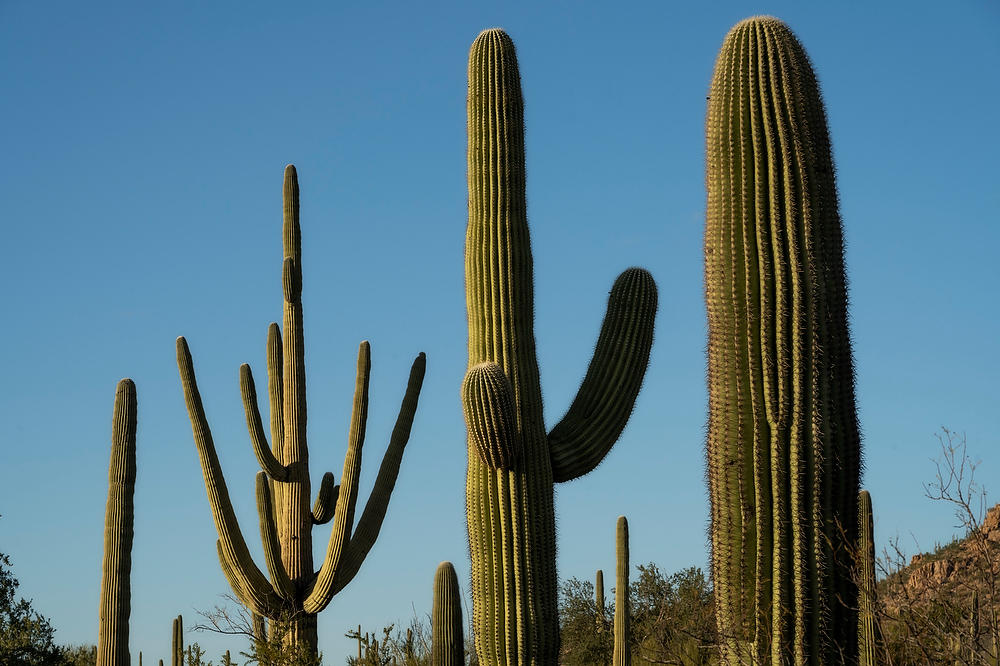
M 0 4 L 0 551 L 65 643 L 93 642 L 115 383 L 139 396 L 132 650 L 227 587 L 174 360 L 191 345 L 232 498 L 260 557 L 237 370 L 280 318 L 281 176 L 298 167 L 314 483 L 338 479 L 357 344 L 372 343 L 363 497 L 413 356 L 427 379 L 382 534 L 320 645 L 468 575 L 462 246 L 469 44 L 502 26 L 526 101 L 536 336 L 552 424 L 615 275 L 660 313 L 631 425 L 557 491 L 563 577 L 707 560 L 705 96 L 729 27 L 783 18 L 824 91 L 838 166 L 867 472 L 880 541 L 954 533 L 923 498 L 941 425 L 1000 492 L 996 113 L 1000 11 L 938 3 Z M 996 495 L 994 495 L 996 497 Z M 328 532 L 317 528 L 317 557 Z M 912 538 L 911 538 L 912 535 Z M 263 561 L 262 559 L 260 560 Z M 217 658 L 240 646 L 188 634 Z M 155 663 L 155 662 L 153 662 Z

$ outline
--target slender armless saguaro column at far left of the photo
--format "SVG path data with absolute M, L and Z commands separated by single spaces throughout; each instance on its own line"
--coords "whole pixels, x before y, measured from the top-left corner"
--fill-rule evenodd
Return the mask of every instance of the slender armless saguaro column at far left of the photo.
M 104 562 L 98 613 L 97 666 L 129 666 L 128 618 L 132 612 L 132 521 L 135 515 L 135 384 L 118 382 L 111 422 L 108 504 L 104 512 Z

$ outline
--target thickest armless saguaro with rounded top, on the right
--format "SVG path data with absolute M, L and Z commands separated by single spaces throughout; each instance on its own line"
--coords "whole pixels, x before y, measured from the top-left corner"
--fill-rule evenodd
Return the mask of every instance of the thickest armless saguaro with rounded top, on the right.
M 726 37 L 708 105 L 708 481 L 724 663 L 856 658 L 861 447 L 826 117 L 781 21 Z

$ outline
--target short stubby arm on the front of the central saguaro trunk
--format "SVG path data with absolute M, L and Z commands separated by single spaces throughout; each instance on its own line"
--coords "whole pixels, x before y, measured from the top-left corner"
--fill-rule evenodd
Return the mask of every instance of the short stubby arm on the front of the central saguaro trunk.
M 483 464 L 490 469 L 514 469 L 520 438 L 514 425 L 514 389 L 503 368 L 486 361 L 469 368 L 462 382 L 462 410 Z

